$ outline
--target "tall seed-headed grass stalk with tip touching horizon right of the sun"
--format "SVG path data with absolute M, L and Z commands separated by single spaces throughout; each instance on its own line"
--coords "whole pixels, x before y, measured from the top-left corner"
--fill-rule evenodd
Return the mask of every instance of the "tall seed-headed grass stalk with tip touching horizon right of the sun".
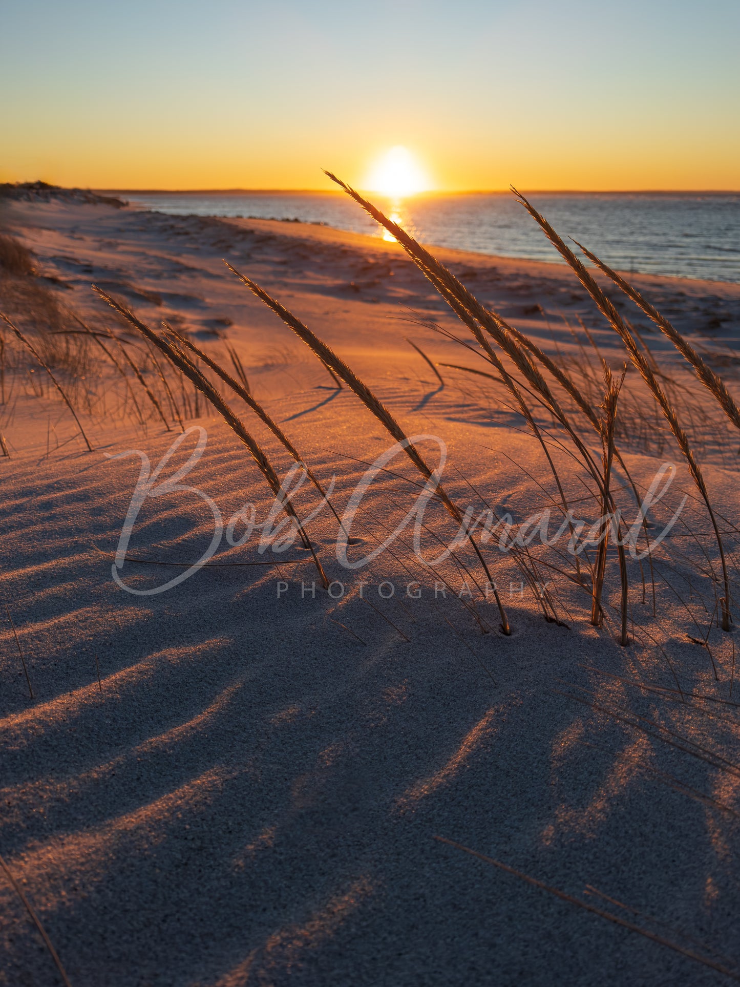
M 704 505 L 706 507 L 711 525 L 714 529 L 714 536 L 717 542 L 717 548 L 719 550 L 719 559 L 722 567 L 722 581 L 724 584 L 724 596 L 720 597 L 720 606 L 722 612 L 722 630 L 729 631 L 731 624 L 730 617 L 730 583 L 729 576 L 727 573 L 727 563 L 724 557 L 724 546 L 722 544 L 722 538 L 719 534 L 719 527 L 714 516 L 714 511 L 709 500 L 709 494 L 706 490 L 706 485 L 704 483 L 702 470 L 700 469 L 699 463 L 697 462 L 692 448 L 689 444 L 689 438 L 684 431 L 681 423 L 676 415 L 676 411 L 669 402 L 666 394 L 658 382 L 655 372 L 653 371 L 648 359 L 642 352 L 642 350 L 637 345 L 634 337 L 629 331 L 629 328 L 625 324 L 622 316 L 619 314 L 617 309 L 614 307 L 611 299 L 602 291 L 601 287 L 597 284 L 594 278 L 591 276 L 589 271 L 585 266 L 579 261 L 579 259 L 573 254 L 573 252 L 565 245 L 562 239 L 555 233 L 555 230 L 550 225 L 550 223 L 542 216 L 537 209 L 517 190 L 513 189 L 514 194 L 517 196 L 521 204 L 525 207 L 527 212 L 539 223 L 543 232 L 553 244 L 560 256 L 567 262 L 567 264 L 572 267 L 578 280 L 581 282 L 583 287 L 588 291 L 588 293 L 593 298 L 596 303 L 597 308 L 601 314 L 609 321 L 612 328 L 619 335 L 622 342 L 625 343 L 625 348 L 629 353 L 629 358 L 634 364 L 634 366 L 639 370 L 642 379 L 645 381 L 649 387 L 655 401 L 657 402 L 664 418 L 668 422 L 668 425 L 673 433 L 676 442 L 684 455 L 689 466 L 689 472 L 691 473 L 692 479 L 697 485 L 697 489 L 702 496 Z

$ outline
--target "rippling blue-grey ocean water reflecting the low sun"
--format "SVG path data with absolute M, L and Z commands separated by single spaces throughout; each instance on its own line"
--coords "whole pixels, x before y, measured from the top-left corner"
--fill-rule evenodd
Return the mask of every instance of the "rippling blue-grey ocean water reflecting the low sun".
M 125 192 L 132 203 L 176 215 L 251 216 L 324 223 L 382 236 L 335 192 Z M 740 193 L 532 192 L 563 237 L 621 270 L 740 282 Z M 538 225 L 507 192 L 374 197 L 422 243 L 536 261 L 559 261 Z

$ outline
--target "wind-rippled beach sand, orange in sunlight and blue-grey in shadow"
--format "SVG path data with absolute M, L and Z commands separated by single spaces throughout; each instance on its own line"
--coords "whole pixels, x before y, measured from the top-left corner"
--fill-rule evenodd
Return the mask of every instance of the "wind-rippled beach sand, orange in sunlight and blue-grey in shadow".
M 437 362 L 484 369 L 418 324 L 464 335 L 398 245 L 305 224 L 64 202 L 13 203 L 2 218 L 58 279 L 53 291 L 96 325 L 111 317 L 91 282 L 219 357 L 233 343 L 270 414 L 323 481 L 336 476 L 338 506 L 392 442 L 221 258 L 333 345 L 409 434 L 445 441 L 446 486 L 461 503 L 475 499 L 466 482 L 518 518 L 551 503 L 552 479 L 522 419 L 481 378 L 440 368 L 440 388 L 405 341 Z M 554 354 L 577 353 L 565 313 L 619 363 L 611 331 L 563 266 L 437 253 Z M 736 339 L 740 286 L 634 281 L 720 356 Z M 410 310 L 416 323 L 405 321 Z M 658 335 L 649 341 L 680 375 Z M 732 386 L 732 357 L 722 358 Z M 737 438 L 690 376 L 680 379 L 706 412 L 697 425 L 703 467 L 734 548 Z M 88 415 L 93 453 L 71 439 L 52 441 L 47 455 L 49 420 L 60 443 L 73 435 L 58 400 L 27 394 L 0 426 L 11 445 L 0 462 L 1 602 L 35 694 L 32 702 L 4 619 L 0 853 L 74 987 L 727 982 L 435 836 L 740 968 L 737 707 L 635 685 L 675 689 L 678 679 L 685 692 L 729 699 L 734 635 L 706 614 L 698 629 L 697 608 L 671 589 L 669 569 L 667 581 L 656 577 L 656 618 L 649 587 L 644 604 L 633 588 L 633 619 L 652 637 L 638 634 L 629 648 L 613 625 L 590 626 L 572 587 L 562 588 L 567 627 L 546 623 L 534 594 L 520 594 L 511 557 L 494 551 L 511 637 L 461 568 L 475 570 L 470 552 L 460 565 L 425 569 L 409 528 L 368 567 L 343 569 L 326 509 L 309 529 L 333 596 L 305 551 L 259 554 L 255 537 L 233 548 L 225 535 L 210 560 L 222 568 L 134 595 L 113 581 L 111 563 L 141 460 L 108 457 L 140 450 L 154 467 L 178 431 Z M 249 420 L 284 473 L 287 456 Z M 183 483 L 211 498 L 224 529 L 248 502 L 263 518 L 269 492 L 233 433 L 209 414 L 185 424 L 204 429 L 207 445 Z M 669 442 L 663 451 L 655 442 L 625 446 L 645 484 L 676 460 Z M 437 455 L 433 443 L 424 449 Z M 418 493 L 409 467 L 391 466 L 401 476 L 370 488 L 351 558 L 376 548 Z M 677 484 L 691 492 L 679 469 Z M 317 506 L 306 491 L 296 502 L 304 513 Z M 713 547 L 699 506 L 687 511 L 677 565 L 701 567 Z M 428 520 L 445 541 L 454 535 L 441 510 L 430 507 Z M 166 492 L 145 501 L 129 552 L 194 562 L 213 532 L 209 502 Z M 439 545 L 425 536 L 425 549 Z M 256 562 L 269 565 L 234 565 Z M 182 570 L 126 563 L 120 577 L 143 591 Z M 687 637 L 704 633 L 716 679 L 707 649 Z M 637 728 L 646 723 L 649 735 Z M 0 983 L 60 983 L 4 876 L 0 895 Z

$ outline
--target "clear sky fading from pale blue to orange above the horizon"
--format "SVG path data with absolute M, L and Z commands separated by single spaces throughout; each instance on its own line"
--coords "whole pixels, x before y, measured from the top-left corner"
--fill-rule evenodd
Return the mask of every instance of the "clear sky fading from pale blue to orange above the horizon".
M 0 182 L 740 190 L 738 0 L 0 0 Z

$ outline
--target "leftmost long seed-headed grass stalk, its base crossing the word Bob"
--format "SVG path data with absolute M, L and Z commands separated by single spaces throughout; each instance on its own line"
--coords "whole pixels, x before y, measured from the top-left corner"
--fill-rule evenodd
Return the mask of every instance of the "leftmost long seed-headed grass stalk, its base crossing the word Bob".
M 95 287 L 95 285 L 93 285 L 93 290 L 98 295 L 100 295 L 100 297 L 103 298 L 104 301 L 108 302 L 111 308 L 115 309 L 115 311 L 118 312 L 120 315 L 122 315 L 124 319 L 127 319 L 128 322 L 130 322 L 131 325 L 134 326 L 146 340 L 149 340 L 149 342 L 153 342 L 158 349 L 162 350 L 165 356 L 167 356 L 172 361 L 172 363 L 174 363 L 174 365 L 180 371 L 182 371 L 182 373 L 185 374 L 185 377 L 187 377 L 191 381 L 194 387 L 208 399 L 208 401 L 213 405 L 216 411 L 226 421 L 226 423 L 229 425 L 232 431 L 247 446 L 247 448 L 252 453 L 252 458 L 257 463 L 259 472 L 267 481 L 267 485 L 269 486 L 270 490 L 272 491 L 272 493 L 274 493 L 276 497 L 279 498 L 283 510 L 295 522 L 301 541 L 303 542 L 304 547 L 311 552 L 311 555 L 313 556 L 314 559 L 314 563 L 316 564 L 316 568 L 318 569 L 319 574 L 321 576 L 322 584 L 326 589 L 329 586 L 329 579 L 327 577 L 327 573 L 324 571 L 322 564 L 319 561 L 314 551 L 314 547 L 311 544 L 311 541 L 303 528 L 303 524 L 301 523 L 301 520 L 298 517 L 298 514 L 296 513 L 295 508 L 293 507 L 293 504 L 290 501 L 290 498 L 283 495 L 281 491 L 280 479 L 275 473 L 272 464 L 270 463 L 264 452 L 262 452 L 261 448 L 259 447 L 259 442 L 250 434 L 250 432 L 244 426 L 241 419 L 237 418 L 237 416 L 234 414 L 231 408 L 226 404 L 226 402 L 223 400 L 223 398 L 218 393 L 218 391 L 216 391 L 216 389 L 213 387 L 213 385 L 207 379 L 207 377 L 203 376 L 203 374 L 200 373 L 200 371 L 194 365 L 194 363 L 192 363 L 185 356 L 185 352 L 183 350 L 178 349 L 171 342 L 168 342 L 167 340 L 164 340 L 161 337 L 157 336 L 157 334 L 152 332 L 152 330 L 149 329 L 148 326 L 146 326 L 143 322 L 140 322 L 136 318 L 136 316 L 133 315 L 132 312 L 129 312 L 127 308 L 116 302 L 113 298 L 111 298 L 111 295 L 107 294 L 101 288 L 97 288 Z

